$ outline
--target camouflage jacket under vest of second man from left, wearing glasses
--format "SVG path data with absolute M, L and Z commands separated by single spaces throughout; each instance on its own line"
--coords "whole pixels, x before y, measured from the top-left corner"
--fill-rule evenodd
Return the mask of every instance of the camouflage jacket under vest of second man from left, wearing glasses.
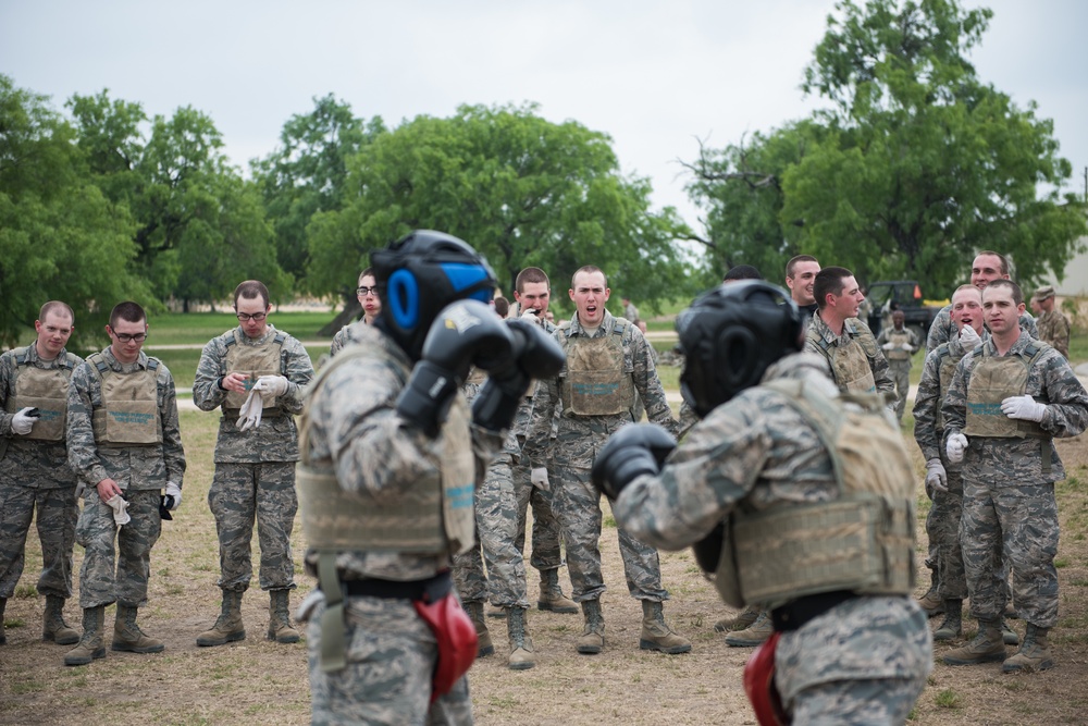
M 124 365 L 110 348 L 102 350 L 106 364 L 119 373 L 147 370 L 148 357 L 141 350 L 136 362 Z M 162 423 L 162 444 L 99 448 L 95 443 L 91 415 L 102 407 L 102 383 L 88 362 L 79 364 L 69 386 L 67 448 L 69 466 L 87 484 L 97 487 L 113 479 L 121 489 L 163 489 L 168 481 L 178 487 L 185 475 L 185 450 L 177 428 L 177 396 L 174 377 L 161 362 L 156 374 L 156 405 Z

